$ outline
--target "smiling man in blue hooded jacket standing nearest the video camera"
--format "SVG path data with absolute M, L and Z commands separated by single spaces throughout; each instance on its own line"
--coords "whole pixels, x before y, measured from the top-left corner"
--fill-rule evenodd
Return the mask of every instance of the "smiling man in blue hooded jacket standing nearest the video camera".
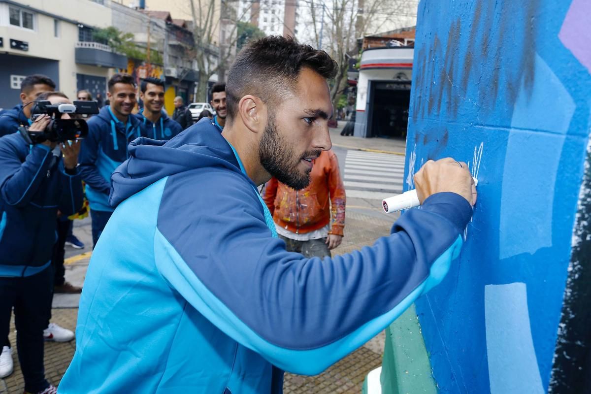
M 115 74 L 108 82 L 109 106 L 88 121 L 88 136 L 80 148 L 80 170 L 92 217 L 96 245 L 113 208 L 109 206 L 111 174 L 129 157 L 127 145 L 141 136 L 141 122 L 131 111 L 136 103 L 135 82 L 129 74 Z

